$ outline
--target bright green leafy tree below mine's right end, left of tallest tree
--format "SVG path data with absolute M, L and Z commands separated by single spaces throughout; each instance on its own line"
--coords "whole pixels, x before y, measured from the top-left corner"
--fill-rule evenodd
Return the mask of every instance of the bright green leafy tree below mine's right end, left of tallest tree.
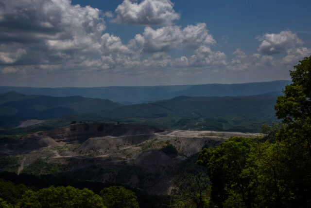
M 231 137 L 219 147 L 204 149 L 199 154 L 199 165 L 207 167 L 212 183 L 211 200 L 218 207 L 230 196 L 239 192 L 244 203 L 250 203 L 252 194 L 248 192 L 250 178 L 242 175 L 249 164 L 247 158 L 252 145 L 251 138 Z

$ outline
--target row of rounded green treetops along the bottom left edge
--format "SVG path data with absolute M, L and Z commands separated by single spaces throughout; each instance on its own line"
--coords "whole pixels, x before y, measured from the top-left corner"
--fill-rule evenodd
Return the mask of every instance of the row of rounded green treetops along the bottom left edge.
M 139 208 L 137 196 L 122 186 L 104 188 L 99 194 L 90 189 L 50 186 L 30 189 L 0 179 L 1 208 Z

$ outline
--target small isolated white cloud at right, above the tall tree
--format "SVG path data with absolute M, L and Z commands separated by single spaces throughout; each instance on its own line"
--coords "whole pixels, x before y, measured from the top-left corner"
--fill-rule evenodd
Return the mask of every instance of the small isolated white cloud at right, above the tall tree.
M 261 54 L 279 54 L 285 52 L 288 48 L 297 47 L 304 42 L 297 37 L 297 34 L 292 33 L 290 30 L 281 31 L 278 34 L 266 33 L 263 36 L 257 37 L 261 44 L 257 49 Z

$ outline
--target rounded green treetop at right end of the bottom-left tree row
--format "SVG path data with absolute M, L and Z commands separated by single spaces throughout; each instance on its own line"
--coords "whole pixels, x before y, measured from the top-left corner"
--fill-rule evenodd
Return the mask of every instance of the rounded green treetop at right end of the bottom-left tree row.
M 104 188 L 101 196 L 107 208 L 139 208 L 135 193 L 121 186 Z

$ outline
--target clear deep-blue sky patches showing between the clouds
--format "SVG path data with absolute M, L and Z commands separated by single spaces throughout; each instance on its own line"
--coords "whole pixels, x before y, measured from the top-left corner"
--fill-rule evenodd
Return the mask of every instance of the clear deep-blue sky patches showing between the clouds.
M 226 53 L 237 47 L 256 52 L 258 40 L 263 33 L 279 33 L 291 30 L 311 47 L 311 1 L 310 0 L 172 0 L 174 10 L 181 14 L 176 25 L 183 27 L 205 22 Z M 74 4 L 91 5 L 104 11 L 114 11 L 122 0 L 72 0 Z M 142 33 L 144 26 L 125 26 L 107 22 L 109 32 L 124 41 Z M 226 42 L 225 42 L 226 41 Z

